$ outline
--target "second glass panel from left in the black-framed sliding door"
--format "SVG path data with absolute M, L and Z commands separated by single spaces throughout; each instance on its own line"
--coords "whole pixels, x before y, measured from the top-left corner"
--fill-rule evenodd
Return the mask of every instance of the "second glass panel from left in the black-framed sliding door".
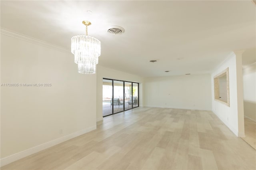
M 114 113 L 124 111 L 124 82 L 114 80 Z

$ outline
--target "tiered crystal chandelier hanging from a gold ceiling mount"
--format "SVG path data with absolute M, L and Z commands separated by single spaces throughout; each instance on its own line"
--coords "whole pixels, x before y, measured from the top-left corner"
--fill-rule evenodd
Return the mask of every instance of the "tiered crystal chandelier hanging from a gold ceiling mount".
M 75 63 L 78 64 L 78 73 L 96 73 L 96 64 L 100 57 L 100 41 L 97 38 L 88 36 L 89 21 L 83 21 L 86 26 L 86 35 L 73 36 L 71 38 L 71 52 L 75 56 Z

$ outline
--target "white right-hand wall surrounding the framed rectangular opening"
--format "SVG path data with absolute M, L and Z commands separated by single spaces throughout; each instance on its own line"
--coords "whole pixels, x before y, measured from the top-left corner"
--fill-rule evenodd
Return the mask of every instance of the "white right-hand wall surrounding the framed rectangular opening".
M 214 77 L 218 75 L 218 73 L 224 71 L 227 67 L 229 68 L 230 107 L 214 99 Z M 237 86 L 238 81 L 242 78 L 242 75 L 239 76 L 240 69 L 242 71 L 242 55 L 238 56 L 235 55 L 235 53 L 232 53 L 228 59 L 221 63 L 212 72 L 212 111 L 222 120 L 222 122 L 226 124 L 228 128 L 230 128 L 230 130 L 232 130 L 232 132 L 234 132 L 234 134 L 237 136 L 244 136 L 243 121 L 242 123 L 239 122 L 241 121 L 240 115 L 243 117 L 244 114 L 243 111 L 241 112 L 240 110 L 240 108 L 243 107 L 243 104 L 240 102 L 241 91 L 239 90 L 241 89 L 241 86 L 239 88 Z M 242 80 L 240 83 L 242 83 Z

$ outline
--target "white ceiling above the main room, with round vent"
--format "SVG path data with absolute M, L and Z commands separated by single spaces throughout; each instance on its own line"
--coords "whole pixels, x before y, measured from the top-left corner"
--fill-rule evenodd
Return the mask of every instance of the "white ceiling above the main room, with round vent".
M 66 49 L 72 36 L 84 34 L 82 21 L 90 20 L 88 34 L 102 43 L 99 65 L 143 77 L 210 73 L 231 51 L 256 46 L 252 1 L 0 3 L 1 28 Z M 125 33 L 108 34 L 112 25 Z

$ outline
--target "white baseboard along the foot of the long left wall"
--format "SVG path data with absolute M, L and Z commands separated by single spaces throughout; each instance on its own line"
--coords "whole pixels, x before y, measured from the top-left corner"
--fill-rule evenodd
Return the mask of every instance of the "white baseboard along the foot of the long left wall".
M 80 130 L 78 132 L 74 132 L 74 133 L 71 133 L 71 134 L 68 134 L 66 136 L 62 136 L 60 138 L 57 138 L 57 139 L 54 139 L 54 140 L 51 140 L 49 142 L 46 142 L 44 144 L 40 144 L 38 146 L 35 146 L 33 148 L 29 148 L 27 150 L 24 150 L 22 152 L 19 152 L 19 153 L 16 153 L 16 154 L 13 154 L 13 155 L 10 155 L 10 156 L 7 156 L 5 158 L 2 158 L 0 160 L 0 166 L 4 166 L 4 165 L 7 165 L 7 164 L 10 164 L 16 160 L 19 160 L 21 158 L 24 158 L 26 156 L 29 156 L 31 154 L 34 154 L 36 152 L 39 152 L 41 150 L 44 150 L 44 149 L 47 149 L 47 148 L 50 148 L 56 144 L 60 144 L 62 142 L 65 142 L 66 140 L 70 140 L 72 138 L 75 138 L 77 136 L 80 136 L 82 134 L 85 134 L 87 132 L 90 132 L 92 130 L 96 129 L 96 125 L 93 125 L 91 127 L 88 127 L 86 129 L 83 129 L 83 130 Z

